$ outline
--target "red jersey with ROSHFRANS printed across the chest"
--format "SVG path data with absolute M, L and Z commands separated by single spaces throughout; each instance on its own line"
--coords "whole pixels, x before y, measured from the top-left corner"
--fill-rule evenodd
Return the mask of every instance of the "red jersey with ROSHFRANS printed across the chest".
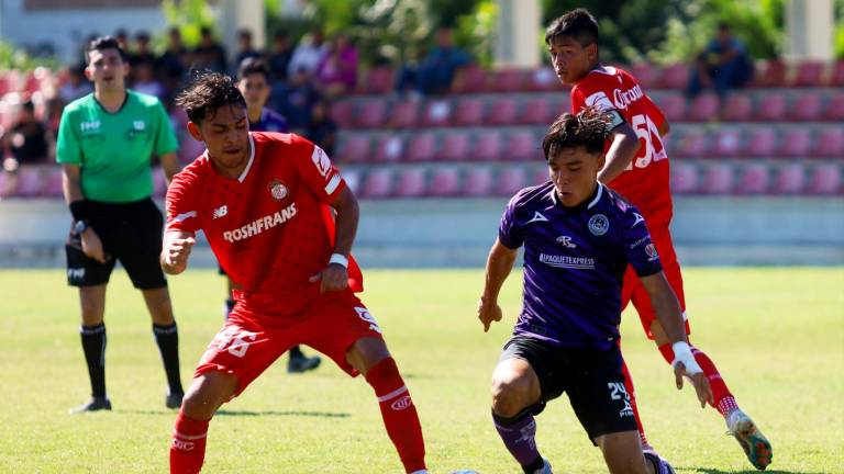
M 333 252 L 325 207 L 345 182 L 327 155 L 298 135 L 252 132 L 249 143 L 237 179 L 218 173 L 207 151 L 174 177 L 167 230 L 204 232 L 247 307 L 289 315 L 320 294 L 309 279 Z M 355 270 L 349 264 L 349 275 Z

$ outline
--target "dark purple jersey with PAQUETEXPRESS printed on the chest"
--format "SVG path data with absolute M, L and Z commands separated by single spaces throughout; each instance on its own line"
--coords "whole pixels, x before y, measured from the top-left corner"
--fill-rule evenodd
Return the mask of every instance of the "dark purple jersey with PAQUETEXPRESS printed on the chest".
M 501 217 L 499 240 L 524 245 L 524 305 L 513 334 L 560 347 L 614 345 L 628 263 L 640 276 L 662 270 L 642 215 L 602 184 L 576 207 L 559 202 L 551 181 L 523 189 Z

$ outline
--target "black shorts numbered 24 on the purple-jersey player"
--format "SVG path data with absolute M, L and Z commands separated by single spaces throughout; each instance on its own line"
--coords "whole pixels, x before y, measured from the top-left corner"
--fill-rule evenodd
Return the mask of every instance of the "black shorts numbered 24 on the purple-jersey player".
M 500 360 L 510 358 L 530 363 L 540 379 L 542 398 L 533 407 L 534 415 L 565 392 L 592 442 L 603 435 L 636 431 L 618 346 L 606 351 L 570 349 L 514 336 L 504 346 Z

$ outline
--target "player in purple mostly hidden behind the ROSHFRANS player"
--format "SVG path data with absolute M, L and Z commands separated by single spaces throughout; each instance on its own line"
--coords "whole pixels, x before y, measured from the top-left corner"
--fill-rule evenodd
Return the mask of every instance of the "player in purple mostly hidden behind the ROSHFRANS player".
M 252 132 L 277 132 L 288 133 L 287 120 L 270 109 L 264 106 L 269 99 L 269 67 L 263 59 L 246 58 L 237 68 L 237 89 L 241 90 L 243 99 L 246 101 L 246 116 L 249 120 L 249 131 Z M 225 274 L 220 268 L 220 273 Z M 225 301 L 225 314 L 232 312 L 234 300 L 232 300 L 232 290 L 236 284 L 229 281 L 229 294 Z M 306 357 L 299 346 L 290 348 L 290 359 L 287 361 L 287 371 L 290 373 L 308 372 L 316 369 L 322 359 L 319 356 Z

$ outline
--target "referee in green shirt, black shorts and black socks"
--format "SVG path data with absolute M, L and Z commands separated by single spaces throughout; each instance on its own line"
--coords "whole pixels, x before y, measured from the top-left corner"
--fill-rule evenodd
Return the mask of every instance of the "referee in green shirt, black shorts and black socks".
M 151 199 L 151 158 L 169 183 L 179 171 L 178 143 L 158 99 L 126 90 L 129 63 L 114 38 L 93 40 L 85 74 L 93 93 L 69 103 L 58 129 L 65 201 L 74 224 L 66 245 L 67 281 L 79 287 L 82 350 L 91 398 L 71 413 L 111 409 L 106 394 L 106 286 L 120 261 L 144 295 L 164 361 L 168 408 L 181 405 L 179 350 L 170 295 L 158 255 L 164 219 Z

